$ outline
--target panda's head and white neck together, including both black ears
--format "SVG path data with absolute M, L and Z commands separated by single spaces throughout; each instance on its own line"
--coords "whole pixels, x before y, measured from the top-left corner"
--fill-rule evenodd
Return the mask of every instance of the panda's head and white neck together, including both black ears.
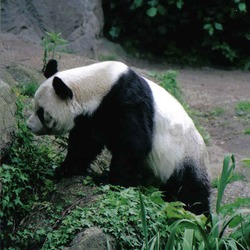
M 37 135 L 58 135 L 73 129 L 79 115 L 91 116 L 128 66 L 101 62 L 57 73 L 57 62 L 48 62 L 48 79 L 35 94 L 35 111 L 27 126 Z

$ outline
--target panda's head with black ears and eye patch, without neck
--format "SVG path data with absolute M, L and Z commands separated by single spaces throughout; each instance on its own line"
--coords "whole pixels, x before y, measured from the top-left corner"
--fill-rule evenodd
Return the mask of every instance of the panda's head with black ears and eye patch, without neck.
M 36 135 L 67 133 L 74 127 L 74 118 L 79 115 L 73 91 L 54 75 L 57 67 L 48 70 L 51 65 L 55 66 L 48 63 L 45 69 L 47 74 L 44 74 L 48 79 L 36 91 L 35 109 L 27 121 L 27 127 Z

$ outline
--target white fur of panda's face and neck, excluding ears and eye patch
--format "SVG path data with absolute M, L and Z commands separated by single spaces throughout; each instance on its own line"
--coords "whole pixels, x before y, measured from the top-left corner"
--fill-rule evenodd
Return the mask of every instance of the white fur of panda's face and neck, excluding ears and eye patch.
M 80 114 L 91 115 L 100 105 L 102 98 L 110 91 L 119 76 L 128 70 L 120 62 L 102 62 L 80 68 L 58 72 L 47 79 L 35 94 L 35 112 L 27 124 L 35 134 L 44 134 L 36 111 L 39 107 L 57 121 L 53 134 L 69 132 L 74 127 L 74 118 Z M 59 77 L 72 91 L 72 100 L 61 100 L 53 89 L 54 77 Z

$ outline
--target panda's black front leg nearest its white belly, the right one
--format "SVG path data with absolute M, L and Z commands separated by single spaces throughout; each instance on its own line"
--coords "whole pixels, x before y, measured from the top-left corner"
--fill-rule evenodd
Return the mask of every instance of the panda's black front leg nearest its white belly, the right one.
M 145 159 L 152 148 L 152 119 L 148 112 L 135 110 L 117 114 L 119 122 L 113 120 L 107 133 L 112 153 L 109 180 L 114 185 L 144 185 L 148 179 Z

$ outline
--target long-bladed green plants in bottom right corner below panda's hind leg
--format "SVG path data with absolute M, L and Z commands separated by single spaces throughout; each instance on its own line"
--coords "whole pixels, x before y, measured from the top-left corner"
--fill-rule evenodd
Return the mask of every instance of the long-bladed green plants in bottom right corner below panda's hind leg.
M 230 158 L 232 164 L 230 166 Z M 169 235 L 165 237 L 165 249 L 248 249 L 250 246 L 250 210 L 239 209 L 249 206 L 250 199 L 238 199 L 233 204 L 221 207 L 222 197 L 228 179 L 235 167 L 234 157 L 225 156 L 222 176 L 218 186 L 216 213 L 211 213 L 207 220 L 196 216 L 191 218 L 180 218 L 170 225 Z M 145 249 L 159 248 L 158 235 L 155 241 L 149 241 L 146 208 L 142 196 L 140 196 L 143 232 L 145 237 Z M 243 217 L 244 215 L 244 217 Z M 168 223 L 169 224 L 169 223 Z M 150 226 L 150 225 L 149 225 Z M 230 229 L 230 232 L 228 231 Z M 157 240 L 156 240 L 157 239 Z M 149 246 L 148 242 L 157 242 Z M 162 242 L 161 242 L 162 244 Z

